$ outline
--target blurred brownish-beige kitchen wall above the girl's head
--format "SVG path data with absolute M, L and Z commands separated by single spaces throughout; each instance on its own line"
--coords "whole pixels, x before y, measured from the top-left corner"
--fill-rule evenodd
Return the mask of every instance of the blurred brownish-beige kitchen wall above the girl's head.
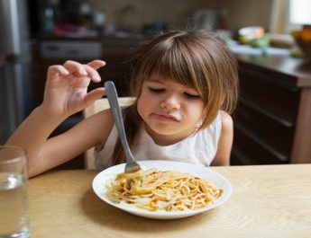
M 175 27 L 184 25 L 197 9 L 226 9 L 227 27 L 236 31 L 244 26 L 270 28 L 272 0 L 89 0 L 98 10 L 105 11 L 107 22 L 131 25 L 139 30 L 143 24 L 160 20 Z M 126 9 L 128 11 L 126 11 Z

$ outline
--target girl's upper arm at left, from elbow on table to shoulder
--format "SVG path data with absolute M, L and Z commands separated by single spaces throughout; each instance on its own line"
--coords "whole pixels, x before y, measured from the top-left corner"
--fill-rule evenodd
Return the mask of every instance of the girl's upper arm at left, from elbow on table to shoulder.
M 29 156 L 29 176 L 65 163 L 94 145 L 104 145 L 113 125 L 111 111 L 103 110 L 65 133 L 50 138 L 41 146 L 40 156 Z

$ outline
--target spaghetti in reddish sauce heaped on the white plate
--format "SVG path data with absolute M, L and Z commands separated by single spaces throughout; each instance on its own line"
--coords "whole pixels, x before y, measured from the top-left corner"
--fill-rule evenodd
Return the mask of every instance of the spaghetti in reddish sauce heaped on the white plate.
M 156 168 L 120 173 L 106 188 L 107 197 L 115 203 L 149 211 L 195 210 L 213 203 L 224 192 L 191 174 Z

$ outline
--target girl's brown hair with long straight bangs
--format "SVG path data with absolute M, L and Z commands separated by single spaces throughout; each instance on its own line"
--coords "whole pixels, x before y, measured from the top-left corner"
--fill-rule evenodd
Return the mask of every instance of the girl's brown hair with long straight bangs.
M 197 90 L 205 104 L 203 123 L 208 127 L 218 110 L 231 114 L 238 98 L 236 58 L 224 40 L 204 30 L 168 31 L 145 41 L 133 57 L 132 106 L 123 110 L 124 127 L 133 146 L 142 119 L 137 112 L 137 100 L 142 84 L 151 75 L 160 75 Z M 114 163 L 125 161 L 118 140 L 114 147 Z

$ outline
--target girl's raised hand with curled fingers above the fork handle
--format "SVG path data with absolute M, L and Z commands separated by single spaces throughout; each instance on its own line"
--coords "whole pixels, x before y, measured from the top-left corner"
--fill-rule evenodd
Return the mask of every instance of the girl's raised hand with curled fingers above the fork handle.
M 95 83 L 101 81 L 96 69 L 102 66 L 105 66 L 102 60 L 94 60 L 87 65 L 69 60 L 62 66 L 50 66 L 42 106 L 63 117 L 87 108 L 105 95 L 104 87 L 87 93 L 91 80 Z

